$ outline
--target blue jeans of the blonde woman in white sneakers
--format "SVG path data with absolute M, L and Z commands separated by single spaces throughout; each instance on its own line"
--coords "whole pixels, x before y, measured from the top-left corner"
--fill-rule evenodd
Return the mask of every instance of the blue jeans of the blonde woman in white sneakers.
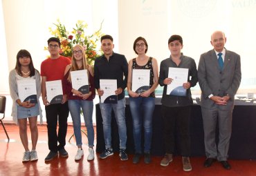
M 81 135 L 81 116 L 80 110 L 84 115 L 84 124 L 87 129 L 87 138 L 89 147 L 93 147 L 94 142 L 94 128 L 93 128 L 93 101 L 69 99 L 68 108 L 73 120 L 73 128 L 75 133 L 75 141 L 77 146 L 82 146 Z

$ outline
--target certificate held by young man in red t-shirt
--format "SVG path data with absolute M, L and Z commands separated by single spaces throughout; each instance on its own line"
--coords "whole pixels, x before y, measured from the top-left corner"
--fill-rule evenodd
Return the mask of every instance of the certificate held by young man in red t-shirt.
M 62 80 L 46 81 L 46 95 L 50 104 L 61 104 L 63 99 Z

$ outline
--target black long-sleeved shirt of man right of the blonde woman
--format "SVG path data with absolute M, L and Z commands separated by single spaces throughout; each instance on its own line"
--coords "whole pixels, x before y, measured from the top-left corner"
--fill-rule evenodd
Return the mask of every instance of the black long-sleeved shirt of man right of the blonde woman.
M 127 86 L 128 63 L 124 55 L 113 52 L 109 61 L 104 55 L 95 59 L 94 82 L 95 88 L 100 88 L 100 79 L 116 79 L 117 87 L 122 88 L 122 93 L 118 95 L 118 100 L 125 97 Z

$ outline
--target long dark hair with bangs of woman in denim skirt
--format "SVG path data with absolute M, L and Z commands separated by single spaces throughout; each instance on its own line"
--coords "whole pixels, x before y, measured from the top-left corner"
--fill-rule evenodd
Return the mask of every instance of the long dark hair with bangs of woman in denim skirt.
M 20 57 L 29 57 L 30 58 L 30 63 L 28 65 L 28 68 L 30 70 L 30 75 L 29 76 L 33 77 L 35 75 L 35 68 L 34 68 L 34 65 L 33 65 L 32 57 L 31 57 L 30 53 L 27 50 L 19 50 L 19 52 L 17 53 L 17 60 L 16 60 L 15 69 L 17 70 L 18 74 L 20 76 L 22 76 L 21 63 L 19 62 Z

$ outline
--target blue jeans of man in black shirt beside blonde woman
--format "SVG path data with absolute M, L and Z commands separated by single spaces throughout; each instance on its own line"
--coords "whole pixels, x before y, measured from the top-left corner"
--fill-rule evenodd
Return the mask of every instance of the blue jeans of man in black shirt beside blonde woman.
M 111 148 L 111 111 L 115 113 L 118 124 L 118 135 L 120 140 L 120 149 L 126 149 L 126 124 L 125 124 L 125 98 L 118 100 L 118 104 L 100 103 L 100 112 L 102 115 L 102 124 L 104 132 L 105 148 Z

